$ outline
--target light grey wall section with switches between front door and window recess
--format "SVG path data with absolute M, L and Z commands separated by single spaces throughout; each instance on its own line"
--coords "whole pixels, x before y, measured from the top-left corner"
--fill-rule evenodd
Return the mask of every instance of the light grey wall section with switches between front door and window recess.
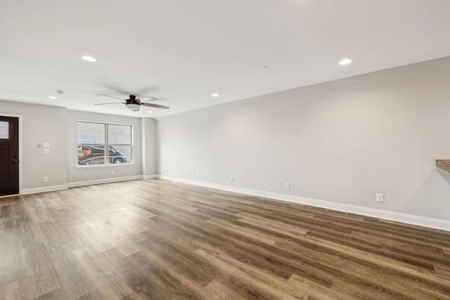
M 23 193 L 67 187 L 65 108 L 0 100 L 2 114 L 22 116 Z M 50 143 L 49 154 L 38 147 L 43 143 Z

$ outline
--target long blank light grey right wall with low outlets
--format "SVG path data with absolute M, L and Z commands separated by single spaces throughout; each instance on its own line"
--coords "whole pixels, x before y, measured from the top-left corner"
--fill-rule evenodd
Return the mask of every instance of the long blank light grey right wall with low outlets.
M 450 220 L 449 82 L 443 58 L 163 117 L 158 173 Z

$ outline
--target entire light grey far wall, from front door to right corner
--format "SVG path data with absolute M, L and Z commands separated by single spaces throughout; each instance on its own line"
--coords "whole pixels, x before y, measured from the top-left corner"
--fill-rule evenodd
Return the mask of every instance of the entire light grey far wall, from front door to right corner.
M 65 107 L 33 105 L 0 100 L 0 115 L 18 115 L 23 121 L 22 192 L 38 193 L 68 186 L 152 178 L 156 173 L 155 120 L 66 110 Z M 77 122 L 131 124 L 134 128 L 134 164 L 77 168 Z M 50 143 L 44 154 L 42 144 Z M 41 147 L 39 147 L 40 145 Z M 111 174 L 114 171 L 115 174 Z M 44 182 L 49 177 L 49 182 Z

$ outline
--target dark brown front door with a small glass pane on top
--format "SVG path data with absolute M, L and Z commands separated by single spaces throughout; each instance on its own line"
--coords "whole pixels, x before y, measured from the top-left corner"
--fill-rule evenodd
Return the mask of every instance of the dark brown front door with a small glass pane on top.
M 0 116 L 0 196 L 19 193 L 19 119 Z

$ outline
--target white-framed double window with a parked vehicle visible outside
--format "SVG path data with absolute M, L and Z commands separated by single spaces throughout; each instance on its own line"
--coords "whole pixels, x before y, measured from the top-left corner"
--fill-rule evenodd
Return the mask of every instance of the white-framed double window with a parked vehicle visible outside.
M 131 125 L 79 121 L 78 165 L 133 162 L 132 132 Z

